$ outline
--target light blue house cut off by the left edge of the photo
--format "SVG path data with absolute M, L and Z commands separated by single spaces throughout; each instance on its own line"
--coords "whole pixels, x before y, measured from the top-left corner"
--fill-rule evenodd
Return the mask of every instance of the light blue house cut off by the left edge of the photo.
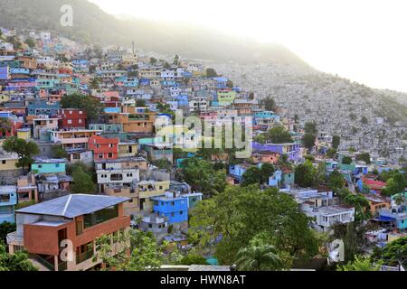
M 0 224 L 15 223 L 14 206 L 17 204 L 17 187 L 0 186 Z

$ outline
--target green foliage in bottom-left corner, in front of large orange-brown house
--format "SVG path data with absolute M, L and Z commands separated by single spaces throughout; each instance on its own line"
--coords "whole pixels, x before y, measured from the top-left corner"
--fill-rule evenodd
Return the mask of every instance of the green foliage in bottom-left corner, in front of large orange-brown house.
M 0 243 L 0 271 L 38 271 L 33 263 L 28 259 L 28 254 L 16 252 L 8 254 L 5 246 Z

